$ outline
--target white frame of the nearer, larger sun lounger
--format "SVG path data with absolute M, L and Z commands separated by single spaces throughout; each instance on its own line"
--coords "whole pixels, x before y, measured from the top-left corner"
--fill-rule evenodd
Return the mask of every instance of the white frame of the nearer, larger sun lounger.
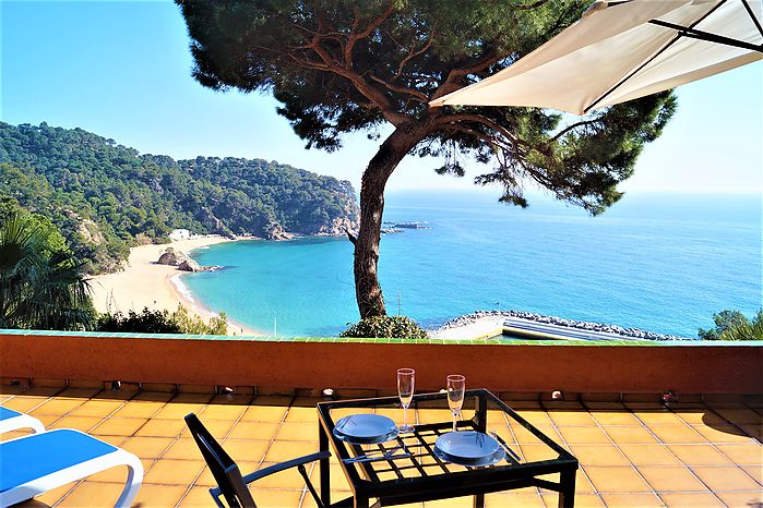
M 24 439 L 24 437 L 17 437 L 16 439 Z M 128 479 L 124 483 L 122 494 L 114 506 L 117 508 L 129 508 L 143 483 L 143 464 L 138 457 L 121 448 L 0 493 L 0 507 L 5 508 L 10 505 L 31 499 L 53 488 L 117 465 L 128 467 Z

